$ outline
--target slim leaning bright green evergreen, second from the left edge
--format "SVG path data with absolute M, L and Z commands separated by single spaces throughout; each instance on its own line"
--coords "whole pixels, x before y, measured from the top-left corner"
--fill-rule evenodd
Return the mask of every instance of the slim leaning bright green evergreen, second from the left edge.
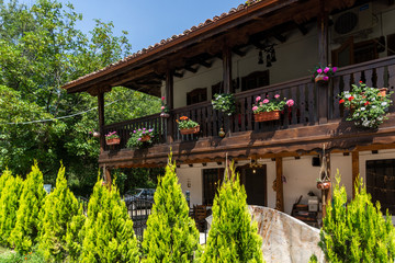
M 38 213 L 45 196 L 43 173 L 35 163 L 23 183 L 15 228 L 11 231 L 9 239 L 18 252 L 27 252 L 36 243 Z

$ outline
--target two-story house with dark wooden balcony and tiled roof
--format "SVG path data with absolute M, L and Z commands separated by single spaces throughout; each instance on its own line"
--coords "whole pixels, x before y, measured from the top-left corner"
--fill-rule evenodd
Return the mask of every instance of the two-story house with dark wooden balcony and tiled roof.
M 312 81 L 315 66 L 339 67 L 328 83 Z M 331 178 L 337 169 L 352 197 L 353 181 L 364 179 L 374 201 L 395 213 L 395 107 L 377 129 L 347 122 L 338 94 L 360 80 L 369 87 L 395 87 L 394 0 L 261 0 L 173 35 L 106 68 L 67 83 L 69 93 L 98 98 L 100 167 L 165 165 L 173 152 L 191 205 L 213 203 L 226 159 L 235 160 L 248 203 L 291 213 L 316 179 L 326 148 Z M 158 114 L 104 125 L 104 95 L 126 87 L 165 96 L 170 117 Z M 215 93 L 234 93 L 232 116 L 213 110 Z M 281 94 L 295 104 L 281 119 L 255 122 L 257 96 Z M 394 94 L 392 100 L 394 100 Z M 176 119 L 185 115 L 200 133 L 181 135 Z M 159 132 L 158 142 L 128 149 L 136 128 Z M 226 136 L 218 136 L 221 128 Z M 116 130 L 119 146 L 104 134 Z

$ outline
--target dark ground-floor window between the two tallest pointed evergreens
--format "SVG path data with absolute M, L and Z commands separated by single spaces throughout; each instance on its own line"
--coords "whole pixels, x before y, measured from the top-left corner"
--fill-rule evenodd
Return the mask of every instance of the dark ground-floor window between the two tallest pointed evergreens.
M 224 179 L 224 169 L 203 170 L 203 205 L 213 205 L 215 194 Z

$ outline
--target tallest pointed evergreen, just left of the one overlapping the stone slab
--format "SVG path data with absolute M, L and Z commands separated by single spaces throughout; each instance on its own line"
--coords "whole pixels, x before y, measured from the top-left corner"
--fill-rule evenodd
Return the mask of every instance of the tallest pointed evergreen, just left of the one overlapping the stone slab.
M 188 203 L 178 183 L 171 153 L 154 199 L 144 232 L 143 262 L 193 262 L 194 251 L 199 248 L 199 231 L 189 217 Z

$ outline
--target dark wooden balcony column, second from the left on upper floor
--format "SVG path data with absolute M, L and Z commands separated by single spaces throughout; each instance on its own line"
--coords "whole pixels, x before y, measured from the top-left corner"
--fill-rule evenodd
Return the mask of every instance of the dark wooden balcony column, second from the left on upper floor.
M 167 72 L 166 72 L 166 87 L 165 87 L 165 96 L 166 96 L 166 103 L 167 106 L 170 110 L 170 117 L 167 118 L 167 138 L 166 141 L 168 144 L 173 142 L 174 138 L 173 138 L 173 125 L 176 122 L 176 116 L 172 115 L 172 110 L 174 107 L 174 91 L 173 91 L 173 70 L 168 68 Z

